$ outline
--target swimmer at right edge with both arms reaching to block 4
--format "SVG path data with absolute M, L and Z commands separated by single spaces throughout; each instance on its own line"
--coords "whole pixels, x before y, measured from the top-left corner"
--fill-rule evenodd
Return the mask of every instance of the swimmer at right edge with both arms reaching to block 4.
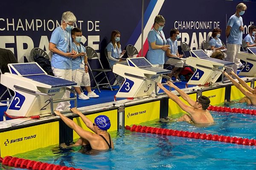
M 247 85 L 246 82 L 244 82 L 244 80 L 240 79 L 240 77 L 238 77 L 238 75 L 236 75 L 233 71 L 231 71 L 230 74 L 236 77 L 241 85 L 238 82 L 236 82 L 236 80 L 234 80 L 230 75 L 228 75 L 227 72 L 224 73 L 224 75 L 228 79 L 230 79 L 233 85 L 236 86 L 236 88 L 238 88 L 242 92 L 242 94 L 245 95 L 244 98 L 239 100 L 239 103 L 246 102 L 247 105 L 256 105 L 256 88 L 251 88 L 249 85 Z M 248 91 L 246 91 L 244 88 L 246 88 Z

